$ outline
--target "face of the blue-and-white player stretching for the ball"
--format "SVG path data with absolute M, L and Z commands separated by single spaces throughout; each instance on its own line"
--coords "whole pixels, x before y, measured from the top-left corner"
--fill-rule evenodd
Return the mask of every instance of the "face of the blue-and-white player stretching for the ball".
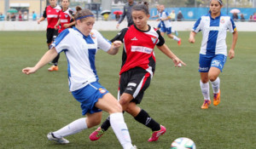
M 84 34 L 84 36 L 88 36 L 90 34 L 90 31 L 92 30 L 92 27 L 95 23 L 94 17 L 88 17 L 84 19 L 83 21 L 77 20 L 79 31 Z

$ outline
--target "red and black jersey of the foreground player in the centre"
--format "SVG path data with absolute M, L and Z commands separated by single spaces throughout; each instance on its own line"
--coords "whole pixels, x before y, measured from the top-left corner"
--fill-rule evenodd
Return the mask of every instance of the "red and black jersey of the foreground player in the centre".
M 119 32 L 111 42 L 116 40 L 124 43 L 122 67 L 119 74 L 135 67 L 142 67 L 148 72 L 154 72 L 154 46 L 162 46 L 165 43 L 165 39 L 158 30 L 148 26 L 148 31 L 141 31 L 132 25 Z

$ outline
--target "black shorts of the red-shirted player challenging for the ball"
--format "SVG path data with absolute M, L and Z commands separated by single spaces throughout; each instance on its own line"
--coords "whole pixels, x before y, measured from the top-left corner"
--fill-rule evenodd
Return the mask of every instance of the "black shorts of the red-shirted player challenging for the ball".
M 119 78 L 119 96 L 127 93 L 133 96 L 131 102 L 139 104 L 143 100 L 144 91 L 148 89 L 150 81 L 150 73 L 141 67 L 123 72 Z

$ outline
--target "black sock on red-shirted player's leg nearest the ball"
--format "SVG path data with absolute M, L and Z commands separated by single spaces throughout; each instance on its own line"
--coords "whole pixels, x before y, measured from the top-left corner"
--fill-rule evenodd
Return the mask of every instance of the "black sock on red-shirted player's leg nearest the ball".
M 155 122 L 153 118 L 149 117 L 148 112 L 144 111 L 143 109 L 137 114 L 136 117 L 134 117 L 134 119 L 136 119 L 139 123 L 143 123 L 143 125 L 152 129 L 152 131 L 160 130 L 160 124 Z

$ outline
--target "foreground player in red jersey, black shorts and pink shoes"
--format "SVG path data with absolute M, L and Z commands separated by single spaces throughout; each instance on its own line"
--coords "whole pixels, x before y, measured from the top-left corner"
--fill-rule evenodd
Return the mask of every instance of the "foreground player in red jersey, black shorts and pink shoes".
M 124 50 L 122 67 L 119 72 L 119 103 L 123 111 L 128 112 L 137 122 L 143 123 L 153 133 L 148 141 L 156 141 L 164 135 L 166 128 L 149 117 L 148 112 L 137 104 L 143 100 L 143 94 L 148 89 L 155 70 L 154 47 L 172 59 L 175 66 L 182 64 L 175 54 L 166 46 L 160 32 L 148 26 L 150 17 L 148 3 L 139 3 L 132 8 L 132 18 L 135 25 L 123 29 L 112 41 L 122 41 Z M 110 117 L 111 120 L 111 117 Z M 91 135 L 90 140 L 98 140 L 110 126 L 109 118 Z

